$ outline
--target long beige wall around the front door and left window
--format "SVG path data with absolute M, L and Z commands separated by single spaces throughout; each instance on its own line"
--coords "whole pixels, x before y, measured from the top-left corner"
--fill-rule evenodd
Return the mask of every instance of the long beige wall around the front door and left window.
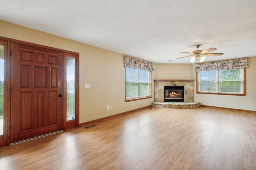
M 80 123 L 150 106 L 125 102 L 123 55 L 0 20 L 0 36 L 80 54 Z M 154 72 L 153 72 L 154 78 Z M 84 88 L 90 84 L 90 88 Z M 107 106 L 113 109 L 107 110 Z

